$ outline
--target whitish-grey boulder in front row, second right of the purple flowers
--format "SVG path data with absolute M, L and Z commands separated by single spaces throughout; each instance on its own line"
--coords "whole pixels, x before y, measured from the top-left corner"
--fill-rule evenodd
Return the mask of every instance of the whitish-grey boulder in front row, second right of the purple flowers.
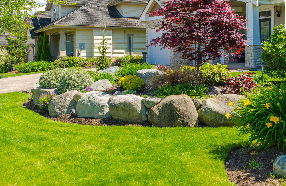
M 85 93 L 76 104 L 78 117 L 94 117 L 96 119 L 110 117 L 108 99 L 111 94 L 99 91 Z

